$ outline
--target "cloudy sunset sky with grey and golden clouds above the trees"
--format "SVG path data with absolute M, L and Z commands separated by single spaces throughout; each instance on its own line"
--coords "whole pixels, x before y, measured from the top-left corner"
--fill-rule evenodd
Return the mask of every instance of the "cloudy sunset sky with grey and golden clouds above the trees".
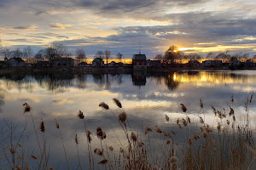
M 184 53 L 256 54 L 253 0 L 0 0 L 5 48 L 34 53 L 52 42 L 88 57 L 108 49 L 148 58 L 171 45 Z

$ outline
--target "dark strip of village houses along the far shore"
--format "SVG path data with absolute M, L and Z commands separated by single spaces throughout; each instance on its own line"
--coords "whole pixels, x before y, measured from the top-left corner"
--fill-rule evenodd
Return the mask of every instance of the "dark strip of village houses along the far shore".
M 233 60 L 232 62 L 223 62 L 222 59 L 207 59 L 202 62 L 199 59 L 189 59 L 187 63 L 177 61 L 174 63 L 166 63 L 161 59 L 147 59 L 145 54 L 134 54 L 132 56 L 132 62 L 129 64 L 123 62 L 111 61 L 110 63 L 105 62 L 106 59 L 96 57 L 92 60 L 91 64 L 84 61 L 84 59 L 73 59 L 71 57 L 59 57 L 51 60 L 29 60 L 21 59 L 19 57 L 4 58 L 0 61 L 0 69 L 11 69 L 11 68 L 37 68 L 44 70 L 45 68 L 130 68 L 134 70 L 168 70 L 172 68 L 183 68 L 183 69 L 256 69 L 256 63 L 252 59 L 247 59 L 242 62 L 241 60 Z

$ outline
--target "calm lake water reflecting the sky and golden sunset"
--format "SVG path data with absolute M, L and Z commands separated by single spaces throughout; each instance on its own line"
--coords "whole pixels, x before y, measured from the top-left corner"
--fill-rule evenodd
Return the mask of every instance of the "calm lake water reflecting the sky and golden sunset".
M 132 75 L 4 75 L 0 77 L 0 119 L 2 129 L 6 123 L 18 125 L 19 133 L 27 121 L 26 131 L 20 143 L 26 145 L 35 154 L 38 147 L 29 114 L 23 114 L 23 103 L 32 106 L 32 115 L 36 126 L 44 119 L 46 138 L 50 156 L 49 165 L 55 169 L 65 169 L 64 152 L 60 135 L 55 128 L 55 118 L 61 126 L 61 133 L 67 150 L 70 167 L 78 165 L 75 134 L 79 136 L 79 150 L 82 165 L 88 165 L 87 146 L 84 136 L 84 122 L 77 114 L 84 112 L 87 127 L 96 132 L 102 127 L 107 133 L 108 145 L 119 150 L 120 144 L 113 131 L 125 144 L 125 134 L 111 111 L 103 111 L 98 105 L 106 102 L 110 109 L 119 114 L 120 110 L 113 103 L 113 98 L 121 101 L 128 115 L 132 131 L 143 132 L 145 126 L 155 125 L 165 129 L 171 127 L 178 131 L 177 118 L 190 116 L 198 122 L 198 116 L 204 117 L 212 126 L 216 125 L 211 106 L 228 113 L 231 95 L 234 96 L 236 117 L 242 120 L 245 112 L 244 103 L 256 92 L 256 71 L 180 71 L 150 74 L 134 72 Z M 256 98 L 256 96 L 254 96 Z M 252 125 L 255 127 L 256 99 L 250 105 Z M 202 99 L 204 110 L 200 109 Z M 186 113 L 180 109 L 183 103 L 188 108 Z M 165 115 L 170 117 L 166 122 Z M 194 125 L 196 127 L 196 123 Z M 2 130 L 3 131 L 3 130 Z M 3 132 L 1 133 L 3 134 Z M 40 134 L 40 132 L 38 131 Z M 4 135 L 3 135 L 4 136 Z M 17 138 L 17 137 L 16 137 Z M 41 136 L 40 136 L 41 138 Z M 143 136 L 141 136 L 143 139 Z M 96 135 L 93 148 L 98 146 Z M 177 142 L 183 142 L 183 133 L 177 134 Z M 3 146 L 7 147 L 6 140 Z M 3 153 L 1 153 L 3 154 Z M 1 167 L 7 165 L 0 159 Z

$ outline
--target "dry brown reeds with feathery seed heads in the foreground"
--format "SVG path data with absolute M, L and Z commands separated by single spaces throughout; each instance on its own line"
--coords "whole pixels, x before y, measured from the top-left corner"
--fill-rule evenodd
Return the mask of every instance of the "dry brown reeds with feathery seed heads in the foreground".
M 61 127 L 56 119 L 55 127 L 60 134 L 59 138 L 65 153 L 67 169 L 248 169 L 256 154 L 253 144 L 255 127 L 251 125 L 249 110 L 252 100 L 253 95 L 245 103 L 245 115 L 242 123 L 236 121 L 236 114 L 233 109 L 234 99 L 231 97 L 230 105 L 232 106 L 229 106 L 229 111 L 218 111 L 212 106 L 212 114 L 218 122 L 215 127 L 213 124 L 208 125 L 205 123 L 204 105 L 200 99 L 199 108 L 203 116 L 198 116 L 197 122 L 191 122 L 189 116 L 184 116 L 177 119 L 176 126 L 178 128 L 175 130 L 172 127 L 169 130 L 163 130 L 155 125 L 154 128 L 145 127 L 144 133 L 131 130 L 129 114 L 125 113 L 119 99 L 113 99 L 113 102 L 119 107 L 119 114 L 115 114 L 108 104 L 102 102 L 99 106 L 102 107 L 103 111 L 116 118 L 127 141 L 122 143 L 112 128 L 121 146 L 114 148 L 108 144 L 108 134 L 105 133 L 104 129 L 96 127 L 95 135 L 99 140 L 99 145 L 92 148 L 91 142 L 96 139 L 92 139 L 94 134 L 86 126 L 84 113 L 79 111 L 78 117 L 84 123 L 84 135 L 87 140 L 80 140 L 77 134 L 74 136 L 74 148 L 76 147 L 78 156 L 77 167 L 70 167 L 68 164 Z M 181 111 L 186 112 L 186 106 L 180 105 Z M 7 168 L 54 169 L 55 167 L 49 165 L 49 150 L 47 150 L 45 138 L 47 131 L 44 127 L 44 120 L 40 122 L 39 130 L 41 132 L 38 132 L 33 121 L 32 108 L 26 103 L 24 104 L 24 113 L 31 115 L 39 151 L 38 153 L 26 152 L 26 148 L 20 144 L 26 125 L 19 138 L 13 139 L 15 127 L 6 122 L 10 132 L 6 139 L 10 139 L 10 145 L 8 148 L 2 146 L 0 150 L 3 153 L 3 159 L 8 161 L 9 167 Z M 169 116 L 165 115 L 164 118 L 166 122 L 170 121 Z M 177 133 L 184 134 L 183 143 L 177 142 Z M 79 144 L 86 144 L 87 146 L 87 157 L 90 162 L 88 167 L 81 166 Z

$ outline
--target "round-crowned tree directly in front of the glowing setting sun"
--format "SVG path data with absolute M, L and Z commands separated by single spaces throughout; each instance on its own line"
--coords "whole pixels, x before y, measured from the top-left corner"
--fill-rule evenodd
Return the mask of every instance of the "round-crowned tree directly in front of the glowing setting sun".
M 178 50 L 178 48 L 175 45 L 170 46 L 170 48 L 168 48 L 166 50 L 165 53 L 165 60 L 168 63 L 175 63 L 177 59 L 179 59 L 182 55 L 182 52 Z

